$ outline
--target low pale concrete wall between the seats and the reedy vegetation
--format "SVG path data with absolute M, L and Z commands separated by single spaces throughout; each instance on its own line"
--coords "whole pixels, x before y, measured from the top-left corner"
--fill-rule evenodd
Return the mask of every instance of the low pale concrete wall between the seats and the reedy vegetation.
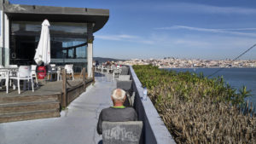
M 142 101 L 142 84 L 137 78 L 132 66 L 130 66 L 131 79 L 133 80 L 132 89 L 136 92 L 134 107 L 137 111 L 139 120 L 143 121 L 143 134 L 140 143 L 150 144 L 175 144 L 172 135 L 154 108 L 152 101 Z

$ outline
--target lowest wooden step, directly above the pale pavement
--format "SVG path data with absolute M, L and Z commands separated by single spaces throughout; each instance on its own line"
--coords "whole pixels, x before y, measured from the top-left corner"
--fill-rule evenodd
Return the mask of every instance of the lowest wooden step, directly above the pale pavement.
M 15 122 L 21 120 L 30 120 L 38 118 L 56 118 L 60 117 L 59 110 L 41 110 L 32 112 L 15 112 L 0 114 L 0 123 Z

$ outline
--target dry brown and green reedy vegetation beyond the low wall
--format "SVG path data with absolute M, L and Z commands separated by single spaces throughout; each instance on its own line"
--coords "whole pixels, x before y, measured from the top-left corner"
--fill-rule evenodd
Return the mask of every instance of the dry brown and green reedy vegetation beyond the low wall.
M 253 107 L 241 108 L 246 87 L 236 93 L 223 78 L 133 67 L 177 143 L 256 143 Z

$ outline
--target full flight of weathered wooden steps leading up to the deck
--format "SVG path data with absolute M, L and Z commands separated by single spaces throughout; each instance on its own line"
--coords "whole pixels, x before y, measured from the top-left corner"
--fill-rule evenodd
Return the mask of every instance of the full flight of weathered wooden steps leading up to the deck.
M 58 95 L 0 96 L 0 123 L 60 117 Z

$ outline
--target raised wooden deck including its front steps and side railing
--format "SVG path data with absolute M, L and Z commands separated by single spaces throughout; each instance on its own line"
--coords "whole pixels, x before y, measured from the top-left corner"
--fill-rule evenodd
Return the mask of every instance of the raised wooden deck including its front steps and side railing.
M 40 81 L 38 88 L 22 90 L 0 89 L 0 123 L 37 118 L 60 117 L 61 107 L 67 107 L 75 98 L 82 94 L 93 79 L 75 78 L 67 80 L 67 89 L 63 93 L 63 82 Z

